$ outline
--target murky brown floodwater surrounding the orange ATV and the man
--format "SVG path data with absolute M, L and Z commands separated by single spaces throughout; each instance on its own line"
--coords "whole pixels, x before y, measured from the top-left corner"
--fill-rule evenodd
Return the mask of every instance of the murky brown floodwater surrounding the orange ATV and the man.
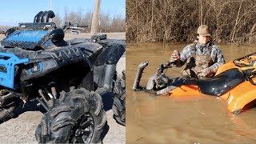
M 158 65 L 184 46 L 127 46 L 126 143 L 255 143 L 256 108 L 233 115 L 227 110 L 227 102 L 216 97 L 171 98 L 132 90 L 139 63 L 150 62 L 140 82 L 146 86 Z M 256 46 L 220 47 L 226 62 L 256 51 Z M 182 68 L 171 68 L 166 75 L 178 77 Z

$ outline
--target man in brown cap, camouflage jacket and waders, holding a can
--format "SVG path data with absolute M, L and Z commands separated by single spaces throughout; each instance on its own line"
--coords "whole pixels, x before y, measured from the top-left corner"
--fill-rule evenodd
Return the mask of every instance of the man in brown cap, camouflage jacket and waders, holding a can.
M 219 66 L 225 63 L 222 50 L 210 41 L 209 28 L 206 25 L 198 27 L 198 41 L 186 46 L 182 53 L 175 52 L 170 57 L 170 62 L 178 67 L 187 63 L 182 74 L 191 78 L 212 77 Z

